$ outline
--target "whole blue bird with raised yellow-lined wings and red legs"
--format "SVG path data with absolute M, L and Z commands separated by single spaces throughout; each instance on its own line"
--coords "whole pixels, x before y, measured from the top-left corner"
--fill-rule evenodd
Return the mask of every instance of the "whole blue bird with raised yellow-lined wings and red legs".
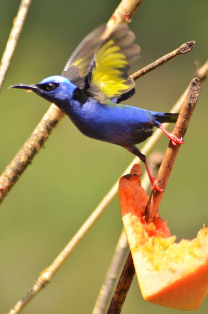
M 140 48 L 126 24 L 118 25 L 102 39 L 105 25 L 93 30 L 79 44 L 60 75 L 43 79 L 34 85 L 14 85 L 29 89 L 62 109 L 84 135 L 128 149 L 145 163 L 152 189 L 155 184 L 144 154 L 135 146 L 160 128 L 173 145 L 183 143 L 167 132 L 163 122 L 176 122 L 178 114 L 148 111 L 120 104 L 135 93 L 134 81 L 128 75 Z

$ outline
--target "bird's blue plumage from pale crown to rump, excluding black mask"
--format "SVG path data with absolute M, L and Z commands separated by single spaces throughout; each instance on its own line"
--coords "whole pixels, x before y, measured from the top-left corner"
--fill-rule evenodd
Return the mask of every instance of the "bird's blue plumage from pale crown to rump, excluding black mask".
M 59 86 L 41 96 L 56 103 L 83 134 L 97 140 L 122 146 L 140 143 L 151 136 L 155 116 L 163 115 L 113 101 L 99 102 L 93 97 L 81 103 L 79 98 L 74 99 L 77 86 L 62 76 L 45 78 L 38 85 L 49 82 Z

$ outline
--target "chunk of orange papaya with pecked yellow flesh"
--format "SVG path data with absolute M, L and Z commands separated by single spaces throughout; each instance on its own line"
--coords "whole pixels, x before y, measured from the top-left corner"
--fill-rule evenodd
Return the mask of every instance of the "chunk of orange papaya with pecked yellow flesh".
M 157 214 L 145 221 L 148 201 L 140 185 L 141 168 L 119 181 L 119 201 L 137 279 L 145 300 L 178 310 L 195 310 L 208 293 L 208 228 L 192 241 L 175 243 Z

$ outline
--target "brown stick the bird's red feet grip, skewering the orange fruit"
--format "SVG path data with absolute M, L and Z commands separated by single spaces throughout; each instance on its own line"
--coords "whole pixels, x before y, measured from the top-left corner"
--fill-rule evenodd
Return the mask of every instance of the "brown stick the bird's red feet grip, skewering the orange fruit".
M 178 117 L 178 121 L 173 131 L 173 133 L 177 137 L 184 136 L 187 130 L 187 127 L 189 125 L 194 107 L 199 98 L 199 94 L 200 94 L 200 82 L 199 82 L 199 79 L 194 78 L 191 81 L 187 97 L 184 101 L 182 110 Z M 162 187 L 166 186 L 166 183 L 169 179 L 169 175 L 172 170 L 177 154 L 178 154 L 178 148 L 173 147 L 172 143 L 171 145 L 169 143 L 164 159 L 162 161 L 158 176 L 157 176 L 157 180 L 159 179 L 161 180 L 161 182 L 164 182 Z M 156 212 L 158 210 L 159 205 L 156 200 L 156 197 L 161 200 L 162 195 L 163 195 L 162 192 L 158 192 L 158 193 L 157 192 L 158 191 L 155 191 L 155 190 L 152 191 L 151 196 L 154 195 L 154 199 L 151 198 L 150 196 L 150 200 L 147 203 L 146 221 L 148 223 L 152 221 L 152 219 L 155 217 Z M 155 201 L 157 202 L 156 207 L 155 207 Z M 109 305 L 107 314 L 119 314 L 121 312 L 126 295 L 129 291 L 130 285 L 134 278 L 134 273 L 135 273 L 134 263 L 132 260 L 131 252 L 129 252 L 129 256 L 124 265 L 123 272 L 121 273 L 121 276 L 119 278 L 116 290 L 112 296 L 112 300 Z

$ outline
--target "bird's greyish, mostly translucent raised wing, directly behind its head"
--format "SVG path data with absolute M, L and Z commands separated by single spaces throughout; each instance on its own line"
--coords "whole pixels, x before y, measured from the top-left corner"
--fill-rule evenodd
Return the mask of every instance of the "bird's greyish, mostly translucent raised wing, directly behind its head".
M 68 78 L 79 88 L 84 88 L 85 76 L 90 65 L 90 61 L 103 40 L 101 35 L 106 28 L 105 24 L 100 25 L 88 34 L 68 59 L 61 75 Z

